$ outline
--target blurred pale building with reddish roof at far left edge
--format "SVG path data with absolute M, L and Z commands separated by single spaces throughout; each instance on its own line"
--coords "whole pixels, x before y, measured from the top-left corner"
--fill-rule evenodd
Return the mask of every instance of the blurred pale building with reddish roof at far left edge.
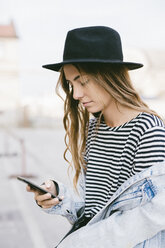
M 18 37 L 10 22 L 0 25 L 0 126 L 16 124 L 19 104 Z

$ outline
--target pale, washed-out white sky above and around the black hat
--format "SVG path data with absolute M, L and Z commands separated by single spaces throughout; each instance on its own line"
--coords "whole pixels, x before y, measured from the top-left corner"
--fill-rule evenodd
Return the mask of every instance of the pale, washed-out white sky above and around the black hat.
M 120 33 L 123 48 L 165 49 L 164 12 L 164 0 L 0 0 L 0 22 L 15 22 L 22 75 L 60 61 L 66 33 L 76 27 L 110 26 Z M 30 92 L 30 79 L 22 78 Z

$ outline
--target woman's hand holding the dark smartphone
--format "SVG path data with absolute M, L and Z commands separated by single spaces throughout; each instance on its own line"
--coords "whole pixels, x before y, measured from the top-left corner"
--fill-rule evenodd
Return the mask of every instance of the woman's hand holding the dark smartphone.
M 54 182 L 52 180 L 46 181 L 41 187 L 53 195 L 57 195 L 56 192 L 56 187 L 54 185 Z M 59 198 L 52 198 L 51 194 L 41 194 L 38 191 L 31 189 L 29 185 L 27 185 L 26 190 L 28 192 L 33 192 L 34 193 L 34 199 L 36 200 L 37 204 L 41 206 L 42 208 L 51 208 L 57 204 L 59 204 Z M 63 197 L 61 197 L 63 199 Z

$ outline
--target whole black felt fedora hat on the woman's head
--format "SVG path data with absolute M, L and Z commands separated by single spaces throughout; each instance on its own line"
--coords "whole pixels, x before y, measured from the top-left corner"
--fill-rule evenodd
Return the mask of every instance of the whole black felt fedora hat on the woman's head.
M 125 65 L 129 70 L 142 64 L 124 62 L 119 33 L 105 26 L 91 26 L 70 30 L 65 40 L 63 61 L 43 65 L 44 68 L 59 71 L 65 64 L 109 63 Z

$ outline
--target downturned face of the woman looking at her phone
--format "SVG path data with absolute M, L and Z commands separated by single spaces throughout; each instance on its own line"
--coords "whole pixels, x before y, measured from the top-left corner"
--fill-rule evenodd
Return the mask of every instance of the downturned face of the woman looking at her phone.
M 110 94 L 90 76 L 81 73 L 69 64 L 64 66 L 64 74 L 67 82 L 73 88 L 73 98 L 90 113 L 106 111 L 114 102 Z

